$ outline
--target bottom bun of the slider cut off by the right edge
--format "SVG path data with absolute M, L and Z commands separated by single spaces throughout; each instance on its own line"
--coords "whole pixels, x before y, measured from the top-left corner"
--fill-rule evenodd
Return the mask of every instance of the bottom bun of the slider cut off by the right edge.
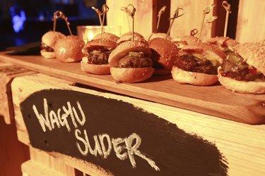
M 238 81 L 230 77 L 223 77 L 218 73 L 218 79 L 226 89 L 230 89 L 233 92 L 240 92 L 245 94 L 264 94 L 265 82 L 254 81 Z

